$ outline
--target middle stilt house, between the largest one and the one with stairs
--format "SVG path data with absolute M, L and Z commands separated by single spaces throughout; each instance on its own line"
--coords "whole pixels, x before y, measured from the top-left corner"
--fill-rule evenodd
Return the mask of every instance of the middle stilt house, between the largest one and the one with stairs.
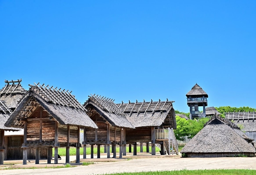
M 134 127 L 116 106 L 114 100 L 95 94 L 89 97 L 84 107 L 98 128 L 84 130 L 84 151 L 86 144 L 90 144 L 91 158 L 93 158 L 93 145 L 97 145 L 97 158 L 100 158 L 100 145 L 107 145 L 107 158 L 110 158 L 110 145 L 112 145 L 113 157 L 116 158 L 116 145 L 118 144 L 120 145 L 119 157 L 126 155 L 126 129 Z M 84 158 L 86 158 L 86 152 L 84 152 Z

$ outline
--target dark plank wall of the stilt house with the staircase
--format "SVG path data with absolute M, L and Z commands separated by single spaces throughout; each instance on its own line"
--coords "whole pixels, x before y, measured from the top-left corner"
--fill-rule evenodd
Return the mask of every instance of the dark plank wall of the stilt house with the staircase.
M 126 142 L 151 142 L 151 128 L 126 129 Z

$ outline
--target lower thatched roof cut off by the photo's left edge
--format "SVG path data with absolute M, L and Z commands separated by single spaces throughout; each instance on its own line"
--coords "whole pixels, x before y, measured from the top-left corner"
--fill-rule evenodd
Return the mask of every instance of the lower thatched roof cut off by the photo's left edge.
M 5 106 L 5 102 L 0 101 L 0 130 L 3 129 L 5 131 L 19 131 L 19 129 L 17 128 L 10 128 L 4 126 L 4 123 L 8 120 L 11 113 L 11 109 Z

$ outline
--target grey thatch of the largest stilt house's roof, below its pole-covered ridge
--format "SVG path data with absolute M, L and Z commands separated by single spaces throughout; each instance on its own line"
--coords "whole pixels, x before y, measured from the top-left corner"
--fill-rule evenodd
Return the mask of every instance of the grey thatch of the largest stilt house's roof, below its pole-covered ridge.
M 31 87 L 27 94 L 20 101 L 20 104 L 11 114 L 9 120 L 5 123 L 5 126 L 13 126 L 22 128 L 22 122 L 19 122 L 19 118 L 27 118 L 36 109 L 37 106 L 42 106 L 54 119 L 56 119 L 62 125 L 73 125 L 82 127 L 98 128 L 96 124 L 86 114 L 85 109 L 75 108 L 79 104 L 71 106 L 65 106 L 60 104 L 54 104 L 52 101 L 46 101 L 44 95 L 40 93 L 37 87 Z M 52 92 L 53 93 L 53 92 Z M 55 98 L 64 98 L 64 93 L 55 93 Z M 75 102 L 70 102 L 70 104 Z M 80 104 L 81 105 L 81 104 Z M 82 106 L 82 105 L 81 105 Z M 83 108 L 83 106 L 81 107 Z

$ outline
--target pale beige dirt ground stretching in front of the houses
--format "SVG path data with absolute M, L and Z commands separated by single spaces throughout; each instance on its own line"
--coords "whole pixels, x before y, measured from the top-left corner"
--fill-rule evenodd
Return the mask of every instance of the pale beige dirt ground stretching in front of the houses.
M 94 156 L 96 157 L 96 156 Z M 218 158 L 181 158 L 180 156 L 161 156 L 139 154 L 138 156 L 127 155 L 123 159 L 104 158 L 80 159 L 80 162 L 93 161 L 94 164 L 83 166 L 78 165 L 73 168 L 58 169 L 18 169 L 18 170 L 0 170 L 0 175 L 9 174 L 45 174 L 45 175 L 82 175 L 82 174 L 106 174 L 115 172 L 138 172 L 138 171 L 164 171 L 164 170 L 198 170 L 198 169 L 256 169 L 256 157 L 218 157 Z M 82 158 L 82 156 L 81 156 Z M 70 160 L 75 161 L 75 156 L 70 156 Z M 15 163 L 15 165 L 10 165 Z M 65 157 L 59 160 L 59 166 L 65 163 Z M 8 165 L 9 164 L 9 165 Z M 46 160 L 40 160 L 40 164 L 35 164 L 30 160 L 27 165 L 22 165 L 20 161 L 4 161 L 1 167 L 47 167 L 56 166 L 56 164 L 46 164 Z M 0 168 L 1 168 L 0 167 Z

